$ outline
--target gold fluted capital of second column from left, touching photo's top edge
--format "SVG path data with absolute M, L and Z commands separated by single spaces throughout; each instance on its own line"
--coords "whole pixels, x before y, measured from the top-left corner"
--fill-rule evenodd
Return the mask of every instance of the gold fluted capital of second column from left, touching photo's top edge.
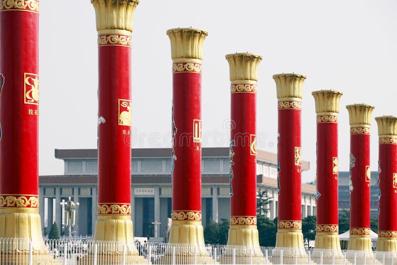
M 132 32 L 133 12 L 139 0 L 91 0 L 96 30 L 120 29 Z

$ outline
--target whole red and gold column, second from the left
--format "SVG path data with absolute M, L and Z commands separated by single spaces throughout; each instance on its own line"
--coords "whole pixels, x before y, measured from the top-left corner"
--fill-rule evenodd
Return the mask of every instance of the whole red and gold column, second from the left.
M 94 239 L 125 242 L 130 254 L 137 254 L 132 236 L 130 143 L 132 23 L 138 2 L 91 0 L 99 58 L 98 217 Z M 120 251 L 122 248 L 114 254 Z

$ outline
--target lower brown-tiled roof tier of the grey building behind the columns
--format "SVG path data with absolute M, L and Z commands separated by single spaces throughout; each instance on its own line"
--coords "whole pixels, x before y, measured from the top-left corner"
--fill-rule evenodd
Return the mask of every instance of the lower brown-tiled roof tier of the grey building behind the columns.
M 132 184 L 170 184 L 171 175 L 132 175 Z M 201 183 L 203 184 L 229 184 L 230 176 L 226 174 L 219 175 L 202 175 Z M 40 185 L 76 185 L 89 184 L 96 185 L 98 183 L 98 175 L 53 175 L 39 176 Z M 277 179 L 257 176 L 257 183 L 268 186 L 277 187 Z M 302 191 L 306 193 L 316 194 L 316 186 L 302 184 Z

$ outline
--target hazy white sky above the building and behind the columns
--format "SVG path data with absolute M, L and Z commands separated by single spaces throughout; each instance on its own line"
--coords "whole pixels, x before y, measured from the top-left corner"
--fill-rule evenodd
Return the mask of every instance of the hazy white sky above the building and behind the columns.
M 166 30 L 208 31 L 202 74 L 203 146 L 228 146 L 229 67 L 225 55 L 263 56 L 258 81 L 258 148 L 276 152 L 277 99 L 272 75 L 307 75 L 302 150 L 316 170 L 316 114 L 311 92 L 343 92 L 340 170 L 348 170 L 345 106 L 375 105 L 371 167 L 377 170 L 374 117 L 397 115 L 397 0 L 141 0 L 132 44 L 132 147 L 169 147 L 172 73 Z M 40 1 L 40 175 L 63 174 L 55 148 L 96 148 L 97 32 L 89 0 Z M 262 135 L 262 136 L 261 136 Z

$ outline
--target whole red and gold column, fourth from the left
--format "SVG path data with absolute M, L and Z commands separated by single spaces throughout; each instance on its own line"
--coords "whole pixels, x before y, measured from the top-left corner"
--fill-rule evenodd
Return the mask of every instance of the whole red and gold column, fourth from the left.
M 228 245 L 249 246 L 263 257 L 257 229 L 257 81 L 262 56 L 226 55 L 230 69 L 230 229 Z M 239 253 L 238 263 L 249 260 Z M 245 259 L 246 258 L 246 259 Z

